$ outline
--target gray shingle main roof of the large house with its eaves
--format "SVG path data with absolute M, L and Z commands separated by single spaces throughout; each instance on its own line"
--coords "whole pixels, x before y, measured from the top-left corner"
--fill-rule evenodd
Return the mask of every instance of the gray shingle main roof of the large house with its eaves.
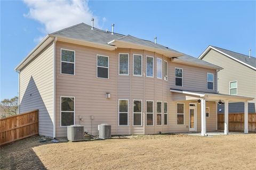
M 98 28 L 91 29 L 90 25 L 85 23 L 79 23 L 77 25 L 56 31 L 47 35 L 27 56 L 26 58 L 15 68 L 16 71 L 22 69 L 26 64 L 31 61 L 39 52 L 42 51 L 49 43 L 55 41 L 63 41 L 69 43 L 77 43 L 86 46 L 99 47 L 105 50 L 115 50 L 117 47 L 124 48 L 136 48 L 141 50 L 154 51 L 159 54 L 163 54 L 169 58 L 176 58 L 175 61 L 183 62 L 186 64 L 196 64 L 198 67 L 207 67 L 212 69 L 221 69 L 221 67 L 214 64 L 202 61 L 193 56 L 175 51 L 169 47 L 161 44 L 155 44 L 154 42 L 140 39 L 131 35 L 111 34 L 109 31 L 103 31 Z M 179 58 L 179 60 L 177 60 Z

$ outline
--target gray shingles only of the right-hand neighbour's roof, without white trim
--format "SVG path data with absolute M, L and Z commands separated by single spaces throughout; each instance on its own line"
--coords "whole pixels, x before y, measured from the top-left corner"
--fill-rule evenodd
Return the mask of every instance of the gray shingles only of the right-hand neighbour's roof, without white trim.
M 212 46 L 212 45 L 211 45 Z M 230 56 L 233 56 L 234 58 L 236 58 L 237 60 L 240 60 L 246 64 L 249 64 L 250 66 L 253 66 L 256 68 L 256 58 L 254 58 L 253 56 L 251 56 L 251 58 L 249 58 L 248 55 L 244 55 L 244 54 L 240 54 L 240 53 L 236 53 L 234 51 L 229 51 L 220 47 L 216 47 L 216 46 L 212 46 L 214 48 L 217 48 L 217 50 L 226 53 Z

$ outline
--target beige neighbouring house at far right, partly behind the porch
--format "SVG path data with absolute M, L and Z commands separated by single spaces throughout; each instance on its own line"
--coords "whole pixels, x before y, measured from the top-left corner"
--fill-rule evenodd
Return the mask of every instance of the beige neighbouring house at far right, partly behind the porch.
M 209 46 L 199 59 L 216 64 L 223 69 L 218 71 L 218 92 L 254 98 L 249 101 L 249 113 L 256 110 L 256 58 L 223 48 Z M 218 107 L 223 113 L 224 107 Z M 243 113 L 243 103 L 230 103 L 229 113 Z

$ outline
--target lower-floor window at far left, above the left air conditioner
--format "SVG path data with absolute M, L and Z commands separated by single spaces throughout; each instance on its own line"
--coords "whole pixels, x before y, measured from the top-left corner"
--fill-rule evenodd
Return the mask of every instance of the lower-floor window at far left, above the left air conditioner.
M 61 96 L 60 121 L 61 126 L 75 124 L 75 97 Z

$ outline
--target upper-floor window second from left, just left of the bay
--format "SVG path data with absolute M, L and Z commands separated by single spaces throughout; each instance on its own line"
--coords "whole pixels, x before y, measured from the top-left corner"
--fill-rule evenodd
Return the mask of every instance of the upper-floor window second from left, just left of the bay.
M 108 78 L 108 56 L 97 55 L 97 78 Z

